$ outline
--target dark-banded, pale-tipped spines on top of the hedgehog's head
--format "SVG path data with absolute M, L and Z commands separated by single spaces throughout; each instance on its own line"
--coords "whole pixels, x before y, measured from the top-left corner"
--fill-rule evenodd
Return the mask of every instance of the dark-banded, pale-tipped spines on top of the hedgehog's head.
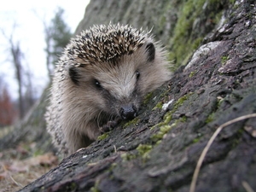
M 148 32 L 119 24 L 91 26 L 89 30 L 72 39 L 67 47 L 68 57 L 79 57 L 84 62 L 97 63 L 119 59 L 131 55 L 140 48 L 148 37 Z

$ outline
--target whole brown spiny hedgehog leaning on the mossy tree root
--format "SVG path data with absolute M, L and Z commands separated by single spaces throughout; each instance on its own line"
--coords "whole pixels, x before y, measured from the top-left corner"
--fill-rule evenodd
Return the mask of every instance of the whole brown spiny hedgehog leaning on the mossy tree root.
M 137 117 L 143 96 L 171 79 L 166 50 L 132 26 L 92 26 L 64 49 L 45 114 L 64 157 Z

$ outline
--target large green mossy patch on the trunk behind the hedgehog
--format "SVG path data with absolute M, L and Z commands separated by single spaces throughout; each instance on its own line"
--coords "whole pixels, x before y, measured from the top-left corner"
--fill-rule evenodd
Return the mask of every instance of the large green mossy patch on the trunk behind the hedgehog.
M 175 61 L 176 67 L 185 65 L 190 56 L 197 49 L 207 32 L 200 30 L 204 22 L 211 22 L 212 27 L 217 24 L 222 15 L 220 0 L 188 0 L 183 2 L 177 15 L 178 20 L 170 40 L 170 54 L 168 59 Z M 197 27 L 198 25 L 198 27 Z

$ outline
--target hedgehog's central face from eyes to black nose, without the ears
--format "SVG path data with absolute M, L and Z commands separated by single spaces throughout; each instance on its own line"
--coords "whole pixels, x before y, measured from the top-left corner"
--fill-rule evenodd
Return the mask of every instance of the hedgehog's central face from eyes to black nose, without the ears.
M 141 102 L 140 72 L 122 64 L 94 77 L 95 90 L 102 97 L 102 110 L 122 119 L 133 119 Z

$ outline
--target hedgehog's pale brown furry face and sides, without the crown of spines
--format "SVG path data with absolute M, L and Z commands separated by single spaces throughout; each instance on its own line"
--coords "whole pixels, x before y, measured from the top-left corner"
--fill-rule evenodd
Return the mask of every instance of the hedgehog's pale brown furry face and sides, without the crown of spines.
M 151 43 L 155 50 L 148 49 Z M 88 63 L 78 56 L 70 59 L 67 49 L 55 69 L 46 114 L 48 131 L 64 154 L 86 147 L 102 131 L 113 128 L 122 119 L 123 106 L 132 105 L 136 115 L 143 96 L 171 78 L 165 52 L 148 36 L 131 54 L 111 61 Z

